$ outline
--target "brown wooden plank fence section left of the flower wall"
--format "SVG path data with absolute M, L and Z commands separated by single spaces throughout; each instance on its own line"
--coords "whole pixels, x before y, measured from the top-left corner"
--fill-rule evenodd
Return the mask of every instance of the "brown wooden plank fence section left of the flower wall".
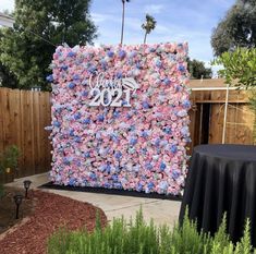
M 2 182 L 41 173 L 50 168 L 50 94 L 0 88 L 0 152 L 9 145 L 21 149 L 19 168 L 1 176 Z

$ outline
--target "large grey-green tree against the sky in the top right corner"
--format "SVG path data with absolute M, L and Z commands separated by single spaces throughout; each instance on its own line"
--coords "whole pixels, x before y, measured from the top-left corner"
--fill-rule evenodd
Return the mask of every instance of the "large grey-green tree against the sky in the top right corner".
M 211 35 L 215 55 L 236 47 L 256 47 L 256 1 L 236 0 Z

